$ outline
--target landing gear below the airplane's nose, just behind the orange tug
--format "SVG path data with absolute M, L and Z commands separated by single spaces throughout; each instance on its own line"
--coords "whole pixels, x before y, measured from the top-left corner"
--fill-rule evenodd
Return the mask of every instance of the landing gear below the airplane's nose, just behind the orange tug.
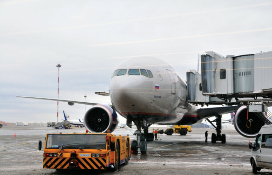
M 148 128 L 151 124 L 147 124 L 147 121 L 145 119 L 137 119 L 137 122 L 134 122 L 137 126 L 137 130 L 134 132 L 134 135 L 137 136 L 137 140 L 133 140 L 131 142 L 131 151 L 132 153 L 138 153 L 138 148 L 140 148 L 140 151 L 142 154 L 145 154 L 147 152 L 147 141 L 153 141 L 154 140 L 154 134 L 148 133 Z M 142 132 L 141 129 L 144 129 L 144 132 Z

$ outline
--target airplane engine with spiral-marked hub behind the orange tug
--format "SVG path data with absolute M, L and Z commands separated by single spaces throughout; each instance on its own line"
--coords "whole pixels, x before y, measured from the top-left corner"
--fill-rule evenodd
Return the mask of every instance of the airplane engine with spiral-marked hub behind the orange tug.
M 104 104 L 94 105 L 84 116 L 84 125 L 89 132 L 103 133 L 108 129 L 113 132 L 118 122 L 116 112 Z

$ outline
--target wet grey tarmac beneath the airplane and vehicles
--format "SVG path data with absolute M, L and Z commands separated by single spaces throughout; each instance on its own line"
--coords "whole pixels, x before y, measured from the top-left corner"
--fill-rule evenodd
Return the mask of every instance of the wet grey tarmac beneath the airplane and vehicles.
M 115 135 L 133 135 L 136 128 L 117 128 Z M 149 129 L 152 131 L 152 128 Z M 132 154 L 128 165 L 120 166 L 117 172 L 107 171 L 56 171 L 43 169 L 43 150 L 38 150 L 38 141 L 44 144 L 46 133 L 85 132 L 85 128 L 53 129 L 40 126 L 3 126 L 0 129 L 0 173 L 17 174 L 252 174 L 248 139 L 234 129 L 223 129 L 226 144 L 211 143 L 214 129 L 192 129 L 187 135 L 159 135 L 161 140 L 148 142 L 148 152 Z M 205 131 L 208 143 L 205 143 Z M 262 169 L 259 174 L 272 174 Z

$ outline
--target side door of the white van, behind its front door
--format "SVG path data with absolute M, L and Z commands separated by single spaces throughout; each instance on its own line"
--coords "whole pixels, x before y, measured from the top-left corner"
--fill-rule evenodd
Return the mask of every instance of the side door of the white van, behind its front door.
M 272 134 L 262 135 L 262 167 L 272 169 Z

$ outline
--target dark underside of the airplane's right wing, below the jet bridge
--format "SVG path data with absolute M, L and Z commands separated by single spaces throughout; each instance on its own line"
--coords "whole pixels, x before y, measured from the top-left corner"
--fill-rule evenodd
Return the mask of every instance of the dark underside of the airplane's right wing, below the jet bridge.
M 216 107 L 216 108 L 200 108 L 197 110 L 197 114 L 201 119 L 206 119 L 209 117 L 227 114 L 230 112 L 236 112 L 240 106 L 226 106 L 226 107 Z

